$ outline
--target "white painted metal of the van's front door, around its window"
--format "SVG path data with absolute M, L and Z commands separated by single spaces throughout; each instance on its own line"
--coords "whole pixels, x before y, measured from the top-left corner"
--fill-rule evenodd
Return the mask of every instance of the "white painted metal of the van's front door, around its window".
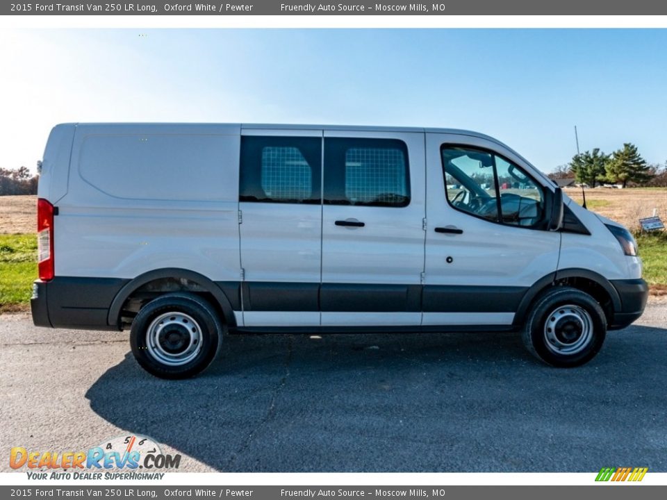
M 442 144 L 466 144 L 496 151 L 535 172 L 512 151 L 485 138 L 427 133 L 426 285 L 529 287 L 554 272 L 561 233 L 496 224 L 453 208 L 445 197 Z M 437 226 L 459 228 L 462 234 L 436 233 Z M 447 258 L 452 263 L 447 263 Z

